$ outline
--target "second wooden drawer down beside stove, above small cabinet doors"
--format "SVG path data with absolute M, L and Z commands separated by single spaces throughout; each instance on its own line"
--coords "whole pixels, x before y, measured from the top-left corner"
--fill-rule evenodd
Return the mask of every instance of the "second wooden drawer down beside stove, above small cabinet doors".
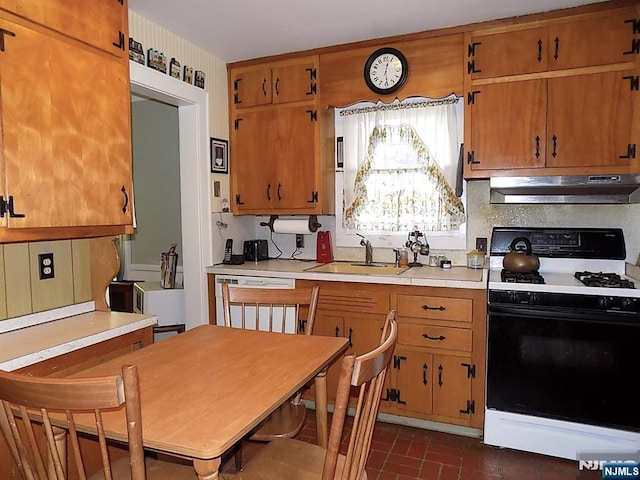
M 398 343 L 445 350 L 471 351 L 471 330 L 399 322 Z

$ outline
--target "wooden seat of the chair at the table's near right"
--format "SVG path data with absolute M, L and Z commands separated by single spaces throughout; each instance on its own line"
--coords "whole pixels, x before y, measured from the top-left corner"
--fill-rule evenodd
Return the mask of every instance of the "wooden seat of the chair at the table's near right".
M 319 480 L 327 451 L 295 439 L 279 439 L 256 452 L 237 474 L 225 473 L 223 480 Z M 340 478 L 345 457 L 338 455 L 335 478 Z M 367 480 L 366 472 L 358 480 Z

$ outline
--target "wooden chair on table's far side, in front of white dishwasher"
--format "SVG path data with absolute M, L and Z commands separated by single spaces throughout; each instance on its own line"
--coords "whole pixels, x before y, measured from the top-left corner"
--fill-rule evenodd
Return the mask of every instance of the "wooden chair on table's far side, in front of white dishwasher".
M 268 330 L 281 333 L 313 333 L 318 307 L 319 287 L 242 288 L 222 284 L 224 324 L 227 327 Z M 233 311 L 232 311 L 233 310 Z M 232 315 L 232 313 L 239 313 Z M 298 392 L 289 402 L 272 413 L 249 440 L 270 442 L 276 438 L 295 437 L 307 413 Z M 236 469 L 242 468 L 242 450 L 235 449 Z

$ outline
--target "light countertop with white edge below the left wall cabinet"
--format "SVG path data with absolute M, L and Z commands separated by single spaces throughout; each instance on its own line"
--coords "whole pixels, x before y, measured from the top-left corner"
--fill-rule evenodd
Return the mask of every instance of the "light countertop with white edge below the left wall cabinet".
M 155 315 L 92 311 L 5 332 L 0 369 L 16 370 L 156 323 Z

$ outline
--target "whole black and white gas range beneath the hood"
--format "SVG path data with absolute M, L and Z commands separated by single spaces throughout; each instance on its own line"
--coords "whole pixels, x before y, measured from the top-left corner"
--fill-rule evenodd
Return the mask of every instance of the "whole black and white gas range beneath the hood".
M 529 248 L 521 237 L 539 267 L 512 275 L 503 260 Z M 640 275 L 625 258 L 621 229 L 494 228 L 485 443 L 570 459 L 640 450 L 636 399 L 607 388 L 640 375 Z

